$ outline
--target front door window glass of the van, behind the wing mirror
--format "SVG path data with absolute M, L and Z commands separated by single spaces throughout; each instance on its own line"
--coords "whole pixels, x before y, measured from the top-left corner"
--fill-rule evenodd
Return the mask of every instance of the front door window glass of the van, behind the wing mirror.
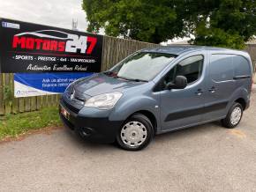
M 204 57 L 202 55 L 194 55 L 185 58 L 180 63 L 177 63 L 163 80 L 163 84 L 167 85 L 173 82 L 177 76 L 184 76 L 187 78 L 187 83 L 192 84 L 201 76 L 203 69 Z

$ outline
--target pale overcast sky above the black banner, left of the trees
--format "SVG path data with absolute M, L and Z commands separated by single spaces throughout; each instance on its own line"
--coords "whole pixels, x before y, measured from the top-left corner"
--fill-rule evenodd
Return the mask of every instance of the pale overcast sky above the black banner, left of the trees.
M 72 28 L 79 20 L 79 31 L 86 31 L 87 16 L 82 0 L 0 0 L 0 18 L 12 18 L 36 24 Z

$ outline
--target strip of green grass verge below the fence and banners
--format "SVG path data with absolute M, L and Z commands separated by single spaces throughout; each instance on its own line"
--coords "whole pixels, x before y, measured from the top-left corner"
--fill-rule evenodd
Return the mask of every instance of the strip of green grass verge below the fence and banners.
M 61 124 L 57 107 L 22 114 L 7 114 L 0 116 L 0 140 L 4 137 L 18 137 L 29 130 L 56 127 Z

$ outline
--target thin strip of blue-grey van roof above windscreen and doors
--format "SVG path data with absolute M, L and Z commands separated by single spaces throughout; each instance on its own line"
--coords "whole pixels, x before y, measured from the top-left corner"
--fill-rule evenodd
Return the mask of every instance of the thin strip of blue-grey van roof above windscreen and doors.
M 215 51 L 222 51 L 223 52 L 242 52 L 246 53 L 245 51 L 239 51 L 230 48 L 215 48 L 215 47 L 207 47 L 207 46 L 192 46 L 192 45 L 184 45 L 184 46 L 162 46 L 158 48 L 145 48 L 142 51 L 144 52 L 156 52 L 156 53 L 165 53 L 165 54 L 172 54 L 172 55 L 181 55 L 186 52 L 191 52 L 195 50 L 215 50 Z

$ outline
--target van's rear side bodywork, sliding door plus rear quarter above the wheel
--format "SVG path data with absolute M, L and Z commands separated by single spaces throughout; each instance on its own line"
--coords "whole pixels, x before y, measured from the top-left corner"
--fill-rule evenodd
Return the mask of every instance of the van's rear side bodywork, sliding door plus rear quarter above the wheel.
M 249 106 L 252 86 L 252 63 L 250 56 L 242 53 L 209 53 L 207 89 L 204 121 L 224 118 L 232 104 L 245 100 Z M 215 91 L 212 91 L 214 87 Z M 215 106 L 215 107 L 213 107 Z

